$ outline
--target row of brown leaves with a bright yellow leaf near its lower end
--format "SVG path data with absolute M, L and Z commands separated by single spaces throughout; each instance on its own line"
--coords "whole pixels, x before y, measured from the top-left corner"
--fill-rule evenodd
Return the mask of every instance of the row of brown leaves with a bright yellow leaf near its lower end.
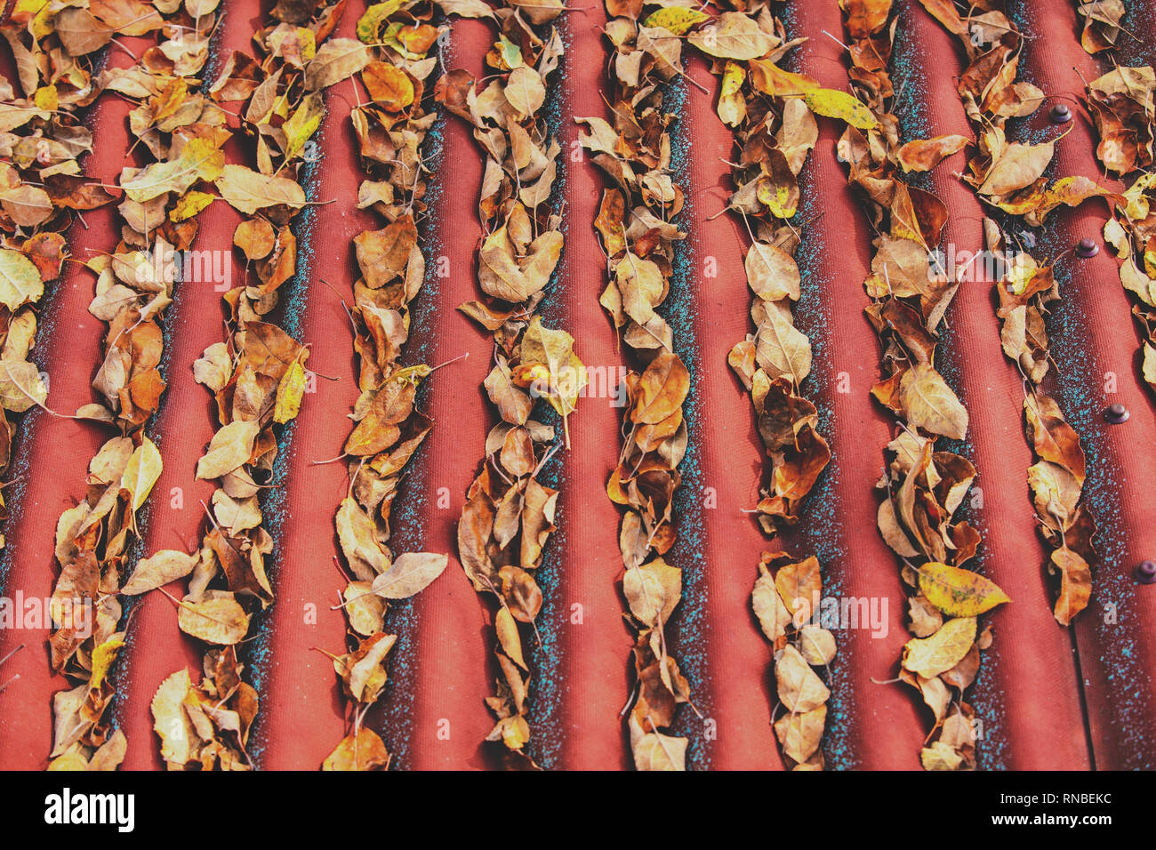
M 992 641 L 991 623 L 978 618 L 1010 601 L 991 581 L 964 564 L 980 544 L 966 520 L 953 522 L 976 478 L 975 466 L 940 437 L 963 439 L 968 411 L 935 369 L 936 327 L 962 278 L 947 276 L 929 256 L 940 244 L 948 209 L 935 194 L 909 185 L 904 172 L 928 171 L 959 150 L 966 139 L 940 136 L 899 143 L 891 112 L 889 75 L 896 20 L 890 0 L 845 0 L 852 90 L 828 114 L 846 124 L 839 142 L 849 182 L 861 191 L 873 230 L 872 271 L 864 281 L 866 312 L 882 350 L 880 379 L 872 396 L 896 419 L 887 445 L 888 465 L 877 487 L 877 524 L 902 559 L 909 589 L 909 630 L 899 679 L 921 695 L 934 723 L 920 761 L 928 770 L 976 764 L 975 709 L 966 692 L 979 670 L 979 653 Z M 808 83 L 799 89 L 806 96 Z M 961 274 L 962 274 L 961 269 Z

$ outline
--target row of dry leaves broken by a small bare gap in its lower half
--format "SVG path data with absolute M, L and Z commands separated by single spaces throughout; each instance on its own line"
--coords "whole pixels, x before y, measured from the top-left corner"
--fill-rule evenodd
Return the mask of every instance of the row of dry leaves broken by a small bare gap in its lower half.
M 670 7 L 662 14 L 688 12 Z M 734 346 L 728 361 L 750 394 L 766 450 L 770 481 L 755 516 L 773 539 L 798 523 L 800 505 L 831 460 L 818 433 L 818 412 L 800 394 L 810 374 L 812 348 L 792 317 L 792 302 L 800 296 L 795 253 L 801 237 L 790 220 L 799 208 L 798 176 L 818 139 L 818 125 L 808 101 L 777 96 L 770 82 L 784 73 L 778 62 L 806 38 L 788 40 L 781 21 L 756 3 L 746 14 L 721 13 L 689 40 L 720 77 L 717 111 L 734 130 L 738 149 L 732 165 L 735 192 L 727 206 L 751 237 L 743 267 L 755 295 L 750 315 L 757 330 Z M 830 96 L 816 91 L 813 99 L 822 103 Z M 831 663 L 836 642 L 829 629 L 812 621 L 822 596 L 815 556 L 763 553 L 751 606 L 775 653 L 775 736 L 787 764 L 799 770 L 823 768 L 830 692 L 813 667 Z

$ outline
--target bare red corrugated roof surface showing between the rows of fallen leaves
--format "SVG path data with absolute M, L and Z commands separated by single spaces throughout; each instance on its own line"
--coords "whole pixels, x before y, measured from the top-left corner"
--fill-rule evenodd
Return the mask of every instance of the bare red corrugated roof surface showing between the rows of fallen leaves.
M 843 22 L 835 0 L 790 5 L 790 35 L 810 37 L 794 54 L 795 69 L 831 88 L 847 88 L 843 47 L 823 35 L 839 35 Z M 971 135 L 955 91 L 964 67 L 956 43 L 916 2 L 901 2 L 892 77 L 902 91 L 896 112 L 914 135 Z M 1009 2 L 1028 36 L 1021 62 L 1025 79 L 1075 113 L 1070 134 L 1058 145 L 1054 175 L 1098 176 L 1094 130 L 1076 103 L 1084 79 L 1102 74 L 1105 60 L 1080 46 L 1070 3 L 1054 0 Z M 1128 21 L 1139 40 L 1124 37 L 1121 64 L 1153 64 L 1156 3 L 1132 2 Z M 260 10 L 249 0 L 227 0 L 217 54 L 247 44 Z M 361 3 L 347 12 L 336 35 L 353 35 Z M 564 150 L 577 138 L 575 116 L 603 116 L 605 12 L 591 5 L 568 13 L 560 27 L 566 54 L 560 77 L 562 97 L 556 130 Z M 482 69 L 491 29 L 477 21 L 452 24 L 450 67 Z M 144 39 L 126 39 L 132 46 Z M 6 57 L 10 62 L 10 57 Z M 120 51 L 110 61 L 128 62 Z M 10 68 L 8 68 L 10 75 Z M 692 769 L 778 769 L 781 759 L 769 724 L 773 703 L 770 648 L 750 613 L 749 594 L 766 540 L 742 512 L 758 498 L 762 444 L 750 401 L 727 367 L 731 347 L 750 332 L 749 291 L 742 273 L 748 237 L 727 215 L 717 215 L 729 193 L 729 131 L 714 113 L 718 80 L 699 58 L 689 74 L 712 93 L 686 87 L 676 139 L 688 190 L 683 227 L 690 274 L 686 291 L 672 295 L 670 320 L 684 360 L 692 367 L 688 405 L 691 450 L 683 472 L 680 530 L 668 560 L 683 569 L 683 601 L 673 618 L 670 641 L 691 681 L 697 710 L 717 722 L 717 737 L 704 739 L 703 724 L 688 709 L 680 730 L 691 738 Z M 319 136 L 324 160 L 307 171 L 311 197 L 334 200 L 303 216 L 302 282 L 287 284 L 287 323 L 312 346 L 310 369 L 336 380 L 318 382 L 297 422 L 283 435 L 282 487 L 273 491 L 266 515 L 277 546 L 271 574 L 276 601 L 257 620 L 259 636 L 246 644 L 245 661 L 260 692 L 261 716 L 251 747 L 266 769 L 314 769 L 344 734 L 343 704 L 331 661 L 313 648 L 336 651 L 346 631 L 332 611 L 344 581 L 333 566 L 338 544 L 334 511 L 348 479 L 341 464 L 313 465 L 341 451 L 357 397 L 348 319 L 339 293 L 356 279 L 351 239 L 380 227 L 356 209 L 362 179 L 356 163 L 349 109 L 353 84 L 332 89 Z M 1046 105 L 1050 105 L 1048 101 Z M 90 113 L 95 153 L 87 172 L 111 182 L 119 173 L 132 139 L 129 104 L 103 96 Z M 1027 119 L 1025 134 L 1043 131 L 1046 108 Z M 895 677 L 903 643 L 904 593 L 898 561 L 875 527 L 873 490 L 883 466 L 882 448 L 891 437 L 890 420 L 872 400 L 879 345 L 864 306 L 862 280 L 869 269 L 870 231 L 858 199 L 836 158 L 838 128 L 821 121 L 820 142 L 802 175 L 802 195 L 815 217 L 803 230 L 800 265 L 803 296 L 796 308 L 800 327 L 815 346 L 814 383 L 808 397 L 818 406 L 833 459 L 802 510 L 799 527 L 785 545 L 814 550 L 828 586 L 843 596 L 885 597 L 889 630 L 874 638 L 866 630 L 838 635 L 832 665 L 830 714 L 824 752 L 829 767 L 918 769 L 919 748 L 928 729 L 918 695 Z M 466 488 L 476 472 L 494 417 L 481 383 L 490 368 L 491 342 L 454 308 L 476 297 L 476 216 L 482 160 L 469 128 L 449 117 L 431 200 L 433 254 L 449 257 L 451 274 L 433 279 L 415 308 L 408 357 L 439 363 L 469 357 L 440 370 L 420 406 L 435 427 L 394 508 L 398 548 L 450 552 L 450 568 L 428 590 L 393 609 L 386 628 L 400 636 L 391 656 L 392 683 L 369 715 L 394 753 L 395 767 L 413 769 L 487 768 L 496 754 L 482 739 L 492 722 L 483 697 L 496 673 L 487 626 L 492 612 L 472 590 L 455 560 L 455 523 Z M 234 151 L 240 157 L 242 151 Z M 971 190 L 953 176 L 966 154 L 953 156 L 932 177 L 934 191 L 951 217 L 946 241 L 969 250 L 981 247 L 983 210 Z M 239 160 L 238 160 L 239 161 Z M 587 365 L 616 367 L 622 353 L 598 304 L 605 286 L 603 263 L 592 229 L 605 185 L 588 162 L 564 165 L 566 241 L 547 313 L 570 330 Z M 1043 247 L 1054 254 L 1084 236 L 1099 238 L 1103 204 L 1064 208 L 1048 219 Z M 71 252 L 110 250 L 117 242 L 116 209 L 86 215 L 74 226 Z M 215 204 L 200 216 L 198 247 L 228 249 L 239 214 Z M 703 279 L 706 257 L 720 274 Z M 239 280 L 243 264 L 235 269 Z M 1032 463 L 1022 430 L 1023 390 L 1014 365 L 1000 349 L 991 287 L 964 284 L 948 311 L 950 331 L 940 348 L 943 371 L 971 415 L 963 449 L 978 471 L 984 507 L 971 513 L 984 542 L 979 568 L 1013 598 L 990 615 L 995 640 L 984 653 L 973 688 L 977 716 L 984 722 L 978 744 L 980 768 L 1085 769 L 1156 767 L 1156 585 L 1138 584 L 1132 570 L 1156 557 L 1156 416 L 1136 356 L 1140 335 L 1127 294 L 1107 251 L 1088 260 L 1070 254 L 1057 266 L 1064 301 L 1053 317 L 1057 398 L 1084 441 L 1089 503 L 1101 524 L 1103 563 L 1094 578 L 1089 608 L 1070 629 L 1051 613 L 1040 564 L 1045 549 L 1035 530 L 1025 470 Z M 72 411 L 91 400 L 90 380 L 101 352 L 103 325 L 89 315 L 92 275 L 69 264 L 43 303 L 44 330 L 37 356 L 51 378 L 51 405 Z M 222 339 L 220 294 L 212 284 L 178 287 L 165 313 L 169 387 L 150 427 L 164 456 L 164 473 L 141 519 L 142 553 L 195 545 L 205 522 L 200 500 L 212 482 L 197 481 L 194 467 L 213 435 L 212 399 L 193 380 L 191 363 Z M 850 392 L 836 391 L 838 372 L 850 376 Z M 1114 372 L 1114 394 L 1105 394 L 1105 375 Z M 1103 408 L 1120 401 L 1132 416 L 1110 426 Z M 558 532 L 539 574 L 546 606 L 539 618 L 542 643 L 528 659 L 534 674 L 532 752 L 547 768 L 617 769 L 630 767 L 620 710 L 630 680 L 630 633 L 622 620 L 617 579 L 618 512 L 605 482 L 618 454 L 620 411 L 606 399 L 586 399 L 571 419 L 572 446 L 554 466 L 561 489 Z M 57 419 L 43 412 L 24 416 L 15 446 L 12 476 L 22 482 L 7 494 L 12 516 L 0 587 L 12 596 L 51 596 L 57 574 L 53 530 L 58 515 L 84 494 L 88 460 L 105 439 L 92 423 Z M 703 488 L 717 493 L 717 507 L 704 508 Z M 171 491 L 183 490 L 173 509 Z M 440 488 L 450 508 L 437 507 Z M 306 604 L 317 606 L 316 624 L 306 624 Z M 583 622 L 571 621 L 571 606 L 583 606 Z M 1116 616 L 1105 616 L 1105 606 Z M 114 714 L 128 738 L 128 769 L 161 768 L 149 701 L 160 682 L 181 665 L 195 670 L 201 648 L 177 628 L 172 603 L 150 593 L 133 608 L 129 643 L 119 661 Z M 0 693 L 0 768 L 46 766 L 52 740 L 51 696 L 64 688 L 49 667 L 47 633 L 0 633 L 0 657 L 18 643 L 0 680 L 18 674 Z M 439 736 L 449 720 L 449 737 Z

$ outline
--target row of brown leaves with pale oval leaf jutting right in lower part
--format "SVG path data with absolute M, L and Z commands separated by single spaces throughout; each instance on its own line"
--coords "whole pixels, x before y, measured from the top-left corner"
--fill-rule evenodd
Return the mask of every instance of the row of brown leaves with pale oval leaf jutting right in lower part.
M 428 2 L 388 0 L 371 5 L 357 22 L 357 37 L 370 53 L 360 76 L 369 102 L 350 113 L 366 179 L 357 206 L 388 223 L 354 239 L 361 280 L 354 283 L 354 350 L 361 397 L 356 422 L 342 456 L 348 458 L 349 494 L 335 523 L 346 567 L 353 578 L 342 593 L 349 624 L 347 650 L 334 657 L 341 689 L 353 708 L 349 733 L 325 760 L 325 770 L 377 770 L 390 766 L 381 738 L 362 725 L 384 693 L 386 659 L 397 635 L 385 634 L 391 599 L 406 599 L 445 570 L 446 555 L 390 552 L 390 513 L 409 459 L 432 421 L 414 407 L 428 365 L 402 367 L 409 335 L 409 303 L 425 278 L 415 220 L 425 209 L 422 162 L 425 135 L 437 119 L 427 111 L 432 91 L 425 82 L 437 65 L 430 57 L 444 31 L 430 23 Z M 360 99 L 358 99 L 360 103 Z

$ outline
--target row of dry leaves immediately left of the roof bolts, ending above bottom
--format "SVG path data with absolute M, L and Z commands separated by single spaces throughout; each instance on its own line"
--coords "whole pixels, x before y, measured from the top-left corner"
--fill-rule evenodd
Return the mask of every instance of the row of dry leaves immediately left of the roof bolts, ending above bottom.
M 1119 201 L 1119 197 L 1083 175 L 1054 182 L 1044 176 L 1055 142 L 1067 131 L 1038 145 L 1007 140 L 1007 119 L 1036 112 L 1044 93 L 1015 81 L 1023 36 L 1002 2 L 986 3 L 984 14 L 966 21 L 948 3 L 921 2 L 959 39 L 969 61 L 958 91 L 978 141 L 962 179 L 1005 222 L 1001 227 L 994 219 L 984 220 L 985 247 L 1003 272 L 995 282 L 1000 339 L 1005 355 L 1024 379 L 1024 435 L 1036 458 L 1028 468 L 1028 483 L 1050 549 L 1046 570 L 1059 578 L 1053 614 L 1067 626 L 1091 597 L 1091 569 L 1098 561 L 1092 540 L 1096 520 L 1083 497 L 1087 473 L 1080 435 L 1044 389 L 1051 361 L 1046 319 L 1060 291 L 1054 261 L 1040 264 L 1030 253 L 1029 228 L 1040 227 L 1060 206 L 1075 207 L 1098 197 Z

